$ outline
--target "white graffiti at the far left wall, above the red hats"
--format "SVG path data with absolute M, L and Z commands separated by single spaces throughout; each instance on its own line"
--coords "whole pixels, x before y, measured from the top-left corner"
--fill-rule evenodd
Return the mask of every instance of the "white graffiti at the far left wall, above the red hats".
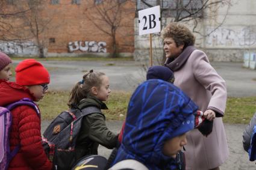
M 38 49 L 33 42 L 0 41 L 0 51 L 8 54 L 37 54 Z

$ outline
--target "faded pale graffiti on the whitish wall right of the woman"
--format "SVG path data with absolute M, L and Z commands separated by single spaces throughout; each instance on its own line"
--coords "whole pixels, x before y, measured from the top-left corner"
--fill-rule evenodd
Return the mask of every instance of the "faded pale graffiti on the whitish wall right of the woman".
M 207 32 L 213 28 L 207 28 Z M 256 31 L 252 26 L 242 29 L 217 28 L 207 37 L 210 46 L 254 46 L 256 45 Z

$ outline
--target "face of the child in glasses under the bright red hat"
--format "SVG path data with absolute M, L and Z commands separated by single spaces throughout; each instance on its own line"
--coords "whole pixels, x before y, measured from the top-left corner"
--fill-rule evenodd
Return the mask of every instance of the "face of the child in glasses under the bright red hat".
M 45 94 L 48 92 L 47 84 L 31 85 L 27 87 L 28 87 L 28 90 L 30 90 L 30 93 L 32 93 L 33 96 L 36 98 L 35 100 L 36 102 L 39 102 L 39 100 L 43 99 L 43 96 L 45 96 Z

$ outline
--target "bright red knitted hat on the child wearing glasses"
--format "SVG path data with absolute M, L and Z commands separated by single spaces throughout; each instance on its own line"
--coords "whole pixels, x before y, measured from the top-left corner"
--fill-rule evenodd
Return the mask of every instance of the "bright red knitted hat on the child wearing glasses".
M 50 82 L 50 75 L 36 59 L 24 59 L 15 68 L 16 83 L 19 85 L 39 85 Z

